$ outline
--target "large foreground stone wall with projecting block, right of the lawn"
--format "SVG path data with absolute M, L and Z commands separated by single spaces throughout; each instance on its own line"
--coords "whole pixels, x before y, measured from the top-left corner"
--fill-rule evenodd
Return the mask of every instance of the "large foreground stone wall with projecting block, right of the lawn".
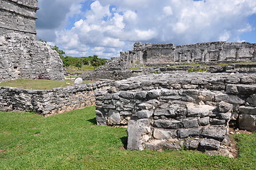
M 229 121 L 256 130 L 256 74 L 152 74 L 96 95 L 98 125 L 128 125 L 128 149 L 219 150 Z

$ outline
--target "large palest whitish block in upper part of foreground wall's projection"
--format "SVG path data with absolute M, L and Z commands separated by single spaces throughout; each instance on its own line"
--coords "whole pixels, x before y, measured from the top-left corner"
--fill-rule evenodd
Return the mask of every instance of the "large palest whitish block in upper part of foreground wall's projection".
M 195 105 L 194 103 L 187 104 L 187 116 L 189 117 L 206 117 L 210 115 L 215 107 L 209 105 Z

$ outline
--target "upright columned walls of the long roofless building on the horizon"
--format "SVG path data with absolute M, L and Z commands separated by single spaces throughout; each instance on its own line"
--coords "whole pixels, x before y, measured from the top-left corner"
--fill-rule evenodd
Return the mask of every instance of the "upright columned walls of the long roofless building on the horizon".
M 194 45 L 143 44 L 136 42 L 121 57 L 129 64 L 184 64 L 256 61 L 256 45 L 248 42 L 207 42 Z

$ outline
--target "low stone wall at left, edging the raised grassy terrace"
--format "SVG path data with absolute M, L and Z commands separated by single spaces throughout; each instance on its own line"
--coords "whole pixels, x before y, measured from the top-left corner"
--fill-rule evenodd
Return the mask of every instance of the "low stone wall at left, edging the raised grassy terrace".
M 34 111 L 40 115 L 48 116 L 86 106 L 94 106 L 94 91 L 109 84 L 110 81 L 106 81 L 50 90 L 0 87 L 0 111 Z

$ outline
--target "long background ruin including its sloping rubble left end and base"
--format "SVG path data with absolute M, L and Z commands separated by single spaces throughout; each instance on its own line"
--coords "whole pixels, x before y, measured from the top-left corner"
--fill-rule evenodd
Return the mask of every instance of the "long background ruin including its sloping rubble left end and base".
M 194 45 L 143 44 L 136 42 L 133 50 L 121 52 L 106 65 L 94 72 L 83 74 L 83 79 L 127 79 L 138 74 L 157 72 L 144 68 L 143 72 L 128 70 L 131 67 L 167 67 L 175 64 L 218 64 L 228 62 L 256 62 L 256 44 L 248 42 L 207 42 Z M 241 69 L 239 69 L 241 67 Z M 243 68 L 242 68 L 243 67 Z M 210 68 L 212 72 L 250 70 L 244 66 Z M 186 68 L 161 68 L 162 72 L 186 70 Z

